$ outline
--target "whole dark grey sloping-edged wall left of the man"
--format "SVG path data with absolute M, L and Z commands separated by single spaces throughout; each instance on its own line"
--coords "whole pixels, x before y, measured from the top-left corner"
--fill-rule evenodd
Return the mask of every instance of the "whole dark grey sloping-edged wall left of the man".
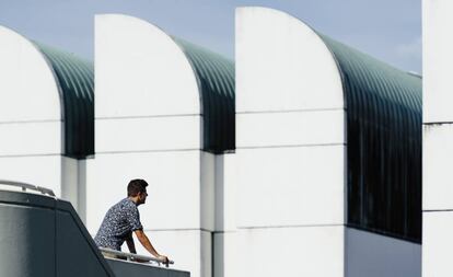
M 0 192 L 2 276 L 115 276 L 68 201 Z

